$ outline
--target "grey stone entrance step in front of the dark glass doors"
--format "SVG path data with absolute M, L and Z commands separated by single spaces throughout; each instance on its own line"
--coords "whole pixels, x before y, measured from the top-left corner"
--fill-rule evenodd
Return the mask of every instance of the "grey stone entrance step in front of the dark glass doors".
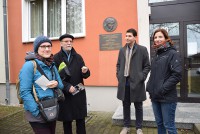
M 178 103 L 176 109 L 176 127 L 183 129 L 194 129 L 194 124 L 200 123 L 200 104 L 198 103 Z M 123 107 L 119 106 L 112 116 L 112 123 L 123 125 Z M 135 109 L 131 105 L 131 124 L 135 126 Z M 143 105 L 143 126 L 156 127 L 155 118 L 151 103 Z

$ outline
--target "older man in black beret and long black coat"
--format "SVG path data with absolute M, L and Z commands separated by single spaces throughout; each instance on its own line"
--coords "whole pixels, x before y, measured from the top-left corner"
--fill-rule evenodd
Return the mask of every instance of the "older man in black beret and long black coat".
M 86 91 L 77 88 L 79 83 L 84 84 L 83 78 L 90 76 L 88 67 L 83 58 L 73 46 L 74 37 L 64 34 L 59 38 L 61 50 L 54 56 L 56 67 L 60 72 L 64 84 L 65 101 L 60 102 L 58 120 L 63 121 L 65 134 L 72 134 L 72 121 L 76 120 L 77 134 L 86 134 L 85 117 L 87 116 Z M 63 71 L 68 70 L 68 71 Z M 79 92 L 77 89 L 79 89 Z

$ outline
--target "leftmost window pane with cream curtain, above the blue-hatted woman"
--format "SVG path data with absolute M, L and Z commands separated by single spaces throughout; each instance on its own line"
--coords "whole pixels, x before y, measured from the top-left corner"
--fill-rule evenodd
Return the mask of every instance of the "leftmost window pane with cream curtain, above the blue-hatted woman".
M 31 38 L 43 34 L 43 0 L 31 1 Z

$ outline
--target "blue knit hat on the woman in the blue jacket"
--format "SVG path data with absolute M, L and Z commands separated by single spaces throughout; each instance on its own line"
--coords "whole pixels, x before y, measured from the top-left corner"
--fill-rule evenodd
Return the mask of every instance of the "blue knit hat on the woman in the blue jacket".
M 40 46 L 42 43 L 44 43 L 44 42 L 49 42 L 49 43 L 51 44 L 51 46 L 52 46 L 51 40 L 50 40 L 48 37 L 43 36 L 43 35 L 40 35 L 40 36 L 38 36 L 38 37 L 35 39 L 35 41 L 34 41 L 34 43 L 33 43 L 33 45 L 34 45 L 34 52 L 35 52 L 35 53 L 38 52 L 39 46 Z

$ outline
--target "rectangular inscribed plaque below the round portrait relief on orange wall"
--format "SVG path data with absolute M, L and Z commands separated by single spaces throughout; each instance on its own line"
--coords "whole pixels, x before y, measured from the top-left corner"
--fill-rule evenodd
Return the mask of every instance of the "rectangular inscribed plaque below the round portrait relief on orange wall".
M 101 34 L 99 35 L 100 51 L 119 50 L 122 47 L 122 34 Z

